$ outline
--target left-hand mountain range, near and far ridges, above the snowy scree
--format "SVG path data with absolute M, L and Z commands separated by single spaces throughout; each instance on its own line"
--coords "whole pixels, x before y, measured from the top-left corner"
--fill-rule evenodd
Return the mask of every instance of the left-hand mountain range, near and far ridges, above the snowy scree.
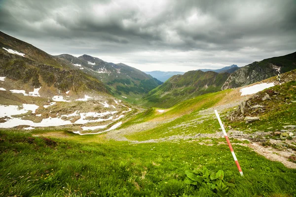
M 52 56 L 0 32 L 0 75 L 18 89 L 42 88 L 50 96 L 73 90 L 77 95 L 99 91 L 121 99 L 143 97 L 162 84 L 139 69 L 113 64 L 89 55 Z M 45 88 L 47 87 L 47 88 Z

